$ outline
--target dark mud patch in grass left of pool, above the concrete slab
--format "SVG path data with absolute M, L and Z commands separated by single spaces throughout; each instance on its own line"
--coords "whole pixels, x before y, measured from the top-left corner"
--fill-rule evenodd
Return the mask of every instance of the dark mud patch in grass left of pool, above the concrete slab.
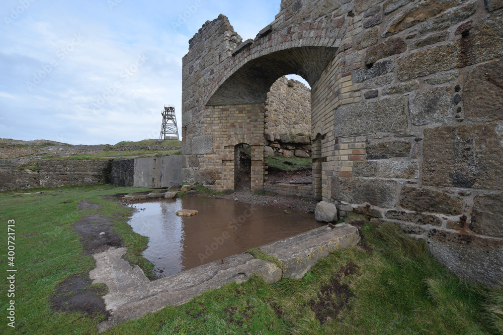
M 73 224 L 73 228 L 80 235 L 80 243 L 88 256 L 110 247 L 122 247 L 122 237 L 114 231 L 114 222 L 109 217 L 99 214 L 82 217 Z

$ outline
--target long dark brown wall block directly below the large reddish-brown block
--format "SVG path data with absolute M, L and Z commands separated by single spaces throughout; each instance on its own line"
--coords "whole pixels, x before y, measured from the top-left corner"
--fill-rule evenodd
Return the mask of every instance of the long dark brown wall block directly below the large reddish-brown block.
M 461 198 L 427 188 L 405 186 L 400 195 L 400 206 L 417 212 L 460 215 L 463 201 Z

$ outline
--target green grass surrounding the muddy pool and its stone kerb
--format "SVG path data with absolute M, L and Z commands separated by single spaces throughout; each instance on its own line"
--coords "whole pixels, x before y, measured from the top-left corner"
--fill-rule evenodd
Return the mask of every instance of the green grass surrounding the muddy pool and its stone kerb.
M 102 185 L 33 190 L 44 193 L 23 196 L 0 193 L 0 222 L 16 220 L 18 323 L 11 332 L 97 334 L 103 315 L 50 308 L 48 297 L 58 283 L 95 266 L 83 254 L 72 223 L 93 213 L 110 216 L 130 249 L 127 257 L 141 263 L 146 240 L 126 225 L 131 209 L 107 196 L 146 190 Z M 78 202 L 86 198 L 102 208 L 78 212 Z M 424 242 L 403 235 L 393 224 L 373 225 L 356 215 L 350 220 L 363 225 L 369 248 L 334 252 L 301 280 L 268 285 L 252 277 L 118 324 L 104 334 L 503 333 L 503 287 L 456 278 L 435 261 Z M 6 273 L 7 248 L 0 254 L 0 271 Z M 0 281 L 0 291 L 7 289 L 8 282 Z M 6 303 L 0 300 L 0 310 L 6 310 Z

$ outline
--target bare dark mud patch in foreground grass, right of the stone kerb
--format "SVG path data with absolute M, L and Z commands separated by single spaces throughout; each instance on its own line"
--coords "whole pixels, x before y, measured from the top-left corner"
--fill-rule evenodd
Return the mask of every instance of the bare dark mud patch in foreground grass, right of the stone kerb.
M 353 275 L 358 267 L 353 263 L 348 263 L 339 270 L 338 276 L 332 278 L 330 284 L 321 288 L 317 299 L 309 302 L 316 318 L 321 324 L 337 319 L 344 309 L 350 309 L 348 301 L 354 294 L 349 289 L 349 282 L 344 282 L 344 278 Z M 341 284 L 341 282 L 344 282 Z

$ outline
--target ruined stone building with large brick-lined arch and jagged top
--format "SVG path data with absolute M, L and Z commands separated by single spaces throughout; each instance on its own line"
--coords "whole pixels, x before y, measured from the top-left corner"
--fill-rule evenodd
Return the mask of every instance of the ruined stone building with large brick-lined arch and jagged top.
M 268 187 L 265 101 L 311 86 L 310 195 L 425 239 L 459 276 L 503 278 L 503 1 L 283 0 L 242 41 L 207 21 L 183 59 L 183 179 Z

